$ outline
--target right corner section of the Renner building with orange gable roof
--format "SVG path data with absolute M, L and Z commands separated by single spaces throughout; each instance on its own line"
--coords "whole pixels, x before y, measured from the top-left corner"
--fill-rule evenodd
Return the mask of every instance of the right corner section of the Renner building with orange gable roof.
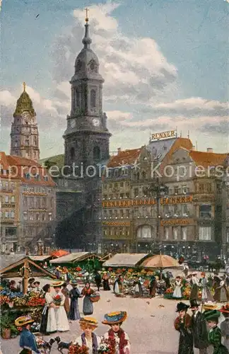
M 167 253 L 221 253 L 223 241 L 222 176 L 227 154 L 177 149 L 163 176 L 168 197 L 160 201 L 160 236 Z M 223 168 L 223 167 L 222 167 Z

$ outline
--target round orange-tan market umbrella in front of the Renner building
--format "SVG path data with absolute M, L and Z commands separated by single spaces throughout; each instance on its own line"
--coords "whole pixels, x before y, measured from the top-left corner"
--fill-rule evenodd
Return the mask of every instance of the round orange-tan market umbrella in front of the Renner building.
M 166 256 L 165 254 L 157 254 L 146 258 L 140 265 L 142 268 L 175 268 L 180 264 L 175 258 Z

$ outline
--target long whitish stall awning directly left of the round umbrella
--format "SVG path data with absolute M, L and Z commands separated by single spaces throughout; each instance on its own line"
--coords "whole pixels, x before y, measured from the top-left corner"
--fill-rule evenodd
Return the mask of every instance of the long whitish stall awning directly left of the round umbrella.
M 147 253 L 117 253 L 112 258 L 105 261 L 103 267 L 134 267 L 141 263 Z

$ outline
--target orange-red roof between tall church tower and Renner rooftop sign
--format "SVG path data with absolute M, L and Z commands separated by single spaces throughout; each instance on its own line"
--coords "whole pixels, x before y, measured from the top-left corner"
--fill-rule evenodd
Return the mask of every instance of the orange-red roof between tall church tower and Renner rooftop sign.
M 136 159 L 139 158 L 141 152 L 142 152 L 142 147 L 139 149 L 127 149 L 127 150 L 121 150 L 118 152 L 117 155 L 112 156 L 110 158 L 110 161 L 107 164 L 107 167 L 122 167 L 123 164 L 125 165 L 131 165 L 134 164 Z

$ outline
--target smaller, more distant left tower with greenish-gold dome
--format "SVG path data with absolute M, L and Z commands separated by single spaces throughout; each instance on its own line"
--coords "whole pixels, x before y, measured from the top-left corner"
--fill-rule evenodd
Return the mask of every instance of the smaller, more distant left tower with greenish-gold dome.
M 39 135 L 36 113 L 30 96 L 25 91 L 21 93 L 13 113 L 11 125 L 11 155 L 22 156 L 38 161 L 40 159 Z

